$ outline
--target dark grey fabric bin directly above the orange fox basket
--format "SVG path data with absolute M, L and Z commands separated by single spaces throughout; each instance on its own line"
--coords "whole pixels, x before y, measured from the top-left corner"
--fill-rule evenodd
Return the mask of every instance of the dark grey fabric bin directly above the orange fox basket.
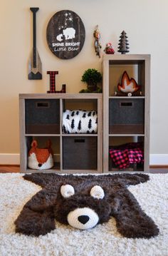
M 60 133 L 60 101 L 55 99 L 26 100 L 26 133 Z

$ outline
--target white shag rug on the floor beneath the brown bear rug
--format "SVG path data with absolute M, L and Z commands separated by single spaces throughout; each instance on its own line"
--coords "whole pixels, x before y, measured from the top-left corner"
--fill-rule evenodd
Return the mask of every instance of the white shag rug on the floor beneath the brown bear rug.
M 159 235 L 149 240 L 122 237 L 114 218 L 91 230 L 75 230 L 56 222 L 56 230 L 48 235 L 16 234 L 14 220 L 23 205 L 41 190 L 22 176 L 0 174 L 1 256 L 168 256 L 168 174 L 150 174 L 147 183 L 129 187 L 159 227 Z

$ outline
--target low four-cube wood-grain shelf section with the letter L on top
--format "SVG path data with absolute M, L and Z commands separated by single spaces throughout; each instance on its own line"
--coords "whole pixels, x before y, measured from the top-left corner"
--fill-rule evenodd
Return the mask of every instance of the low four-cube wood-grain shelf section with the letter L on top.
M 103 171 L 103 96 L 101 93 L 21 94 L 20 145 L 21 173 L 101 173 Z M 63 111 L 85 109 L 98 113 L 98 133 L 63 133 Z M 50 139 L 54 167 L 28 168 L 28 151 L 33 139 L 39 148 Z

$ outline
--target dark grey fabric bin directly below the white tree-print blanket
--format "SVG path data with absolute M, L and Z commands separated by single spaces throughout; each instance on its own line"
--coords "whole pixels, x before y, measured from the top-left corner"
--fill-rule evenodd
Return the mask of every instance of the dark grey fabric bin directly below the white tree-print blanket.
M 63 169 L 96 170 L 97 137 L 63 137 Z

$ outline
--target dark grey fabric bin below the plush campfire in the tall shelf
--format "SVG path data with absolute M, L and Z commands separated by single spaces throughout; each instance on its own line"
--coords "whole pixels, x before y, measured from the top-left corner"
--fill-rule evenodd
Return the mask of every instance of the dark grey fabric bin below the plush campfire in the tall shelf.
M 144 123 L 145 98 L 110 99 L 110 133 L 144 133 Z

